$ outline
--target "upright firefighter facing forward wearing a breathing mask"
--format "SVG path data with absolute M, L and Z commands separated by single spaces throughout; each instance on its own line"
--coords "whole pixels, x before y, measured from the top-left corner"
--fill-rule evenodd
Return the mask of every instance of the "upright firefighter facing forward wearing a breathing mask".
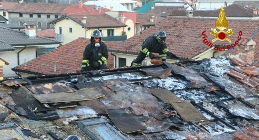
M 94 30 L 91 33 L 91 43 L 85 48 L 81 72 L 107 68 L 108 49 L 102 41 L 102 33 Z

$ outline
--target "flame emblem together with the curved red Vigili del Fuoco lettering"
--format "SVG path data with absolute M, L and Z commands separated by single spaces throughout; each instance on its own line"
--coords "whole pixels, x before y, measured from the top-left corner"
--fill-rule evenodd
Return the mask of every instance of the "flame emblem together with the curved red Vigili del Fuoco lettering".
M 233 35 L 234 32 L 233 32 L 233 29 L 228 29 L 228 20 L 223 6 L 221 7 L 220 13 L 218 13 L 218 18 L 215 23 L 215 26 L 216 26 L 216 29 L 210 29 L 210 34 L 212 36 L 215 36 L 215 38 L 212 39 L 211 42 L 207 38 L 206 31 L 202 32 L 203 43 L 207 45 L 209 48 L 214 46 L 214 50 L 225 51 L 225 50 L 229 50 L 230 48 L 234 48 L 240 42 L 241 36 L 243 34 L 242 31 L 238 32 L 238 37 L 236 41 L 232 44 L 213 45 L 215 41 L 221 41 L 221 42 L 228 41 L 229 43 L 232 42 L 231 39 L 229 39 L 228 37 Z

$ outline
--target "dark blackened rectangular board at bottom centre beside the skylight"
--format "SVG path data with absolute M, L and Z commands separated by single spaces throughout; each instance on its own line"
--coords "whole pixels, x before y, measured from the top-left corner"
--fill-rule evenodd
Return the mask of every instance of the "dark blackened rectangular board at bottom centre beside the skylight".
M 123 134 L 137 132 L 145 130 L 146 127 L 141 124 L 140 119 L 137 119 L 136 116 L 126 109 L 109 109 L 106 110 L 108 116 L 114 125 L 121 131 Z

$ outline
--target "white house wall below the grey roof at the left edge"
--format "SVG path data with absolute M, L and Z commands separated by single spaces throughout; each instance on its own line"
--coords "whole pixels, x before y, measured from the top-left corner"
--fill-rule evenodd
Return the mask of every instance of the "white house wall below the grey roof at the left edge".
M 11 52 L 0 52 L 0 57 L 9 63 L 8 66 L 4 67 L 5 77 L 17 76 L 15 72 L 12 71 L 11 69 L 18 65 L 17 53 L 22 49 L 23 47 L 19 47 Z M 36 47 L 27 47 L 25 50 L 19 53 L 19 57 L 20 57 L 19 59 L 20 65 L 24 64 L 25 59 L 26 59 L 26 62 L 31 61 L 32 59 L 36 58 Z

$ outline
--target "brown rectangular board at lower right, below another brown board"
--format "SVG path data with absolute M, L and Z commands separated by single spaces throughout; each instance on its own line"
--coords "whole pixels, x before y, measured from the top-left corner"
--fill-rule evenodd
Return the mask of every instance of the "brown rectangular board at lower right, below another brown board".
M 186 122 L 208 120 L 200 111 L 187 101 L 171 103 L 171 105 Z

